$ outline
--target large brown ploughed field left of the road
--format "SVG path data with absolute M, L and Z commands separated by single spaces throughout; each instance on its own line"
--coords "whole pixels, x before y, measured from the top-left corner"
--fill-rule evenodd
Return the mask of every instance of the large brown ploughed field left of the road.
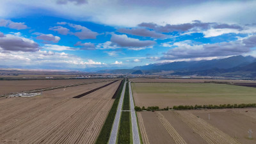
M 49 90 L 36 97 L 0 98 L 0 143 L 95 143 L 120 81 Z

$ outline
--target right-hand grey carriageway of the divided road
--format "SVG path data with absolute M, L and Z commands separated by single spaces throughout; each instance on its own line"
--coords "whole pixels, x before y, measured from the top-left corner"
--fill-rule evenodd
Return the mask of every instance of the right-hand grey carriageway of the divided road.
M 132 97 L 131 82 L 129 82 L 129 93 L 130 93 L 130 105 L 131 105 L 131 117 L 132 117 L 132 140 L 133 140 L 133 144 L 140 144 L 140 136 L 138 131 L 136 112 L 134 110 L 134 102 Z

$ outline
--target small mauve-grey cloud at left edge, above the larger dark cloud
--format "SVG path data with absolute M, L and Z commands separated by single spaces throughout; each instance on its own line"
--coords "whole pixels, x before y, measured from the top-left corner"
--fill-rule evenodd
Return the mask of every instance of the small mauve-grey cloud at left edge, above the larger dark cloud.
M 7 27 L 10 29 L 28 29 L 28 26 L 24 22 L 13 22 L 12 20 L 5 20 L 1 19 L 0 20 L 0 26 Z

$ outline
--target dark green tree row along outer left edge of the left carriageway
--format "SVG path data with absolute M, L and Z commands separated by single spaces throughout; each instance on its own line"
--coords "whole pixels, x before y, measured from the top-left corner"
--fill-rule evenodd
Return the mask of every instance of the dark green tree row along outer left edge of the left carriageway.
M 121 86 L 118 87 L 118 89 L 116 91 L 117 92 L 117 96 L 116 99 L 113 103 L 112 108 L 110 109 L 109 113 L 108 113 L 108 117 L 106 118 L 106 121 L 100 131 L 100 134 L 96 140 L 96 144 L 106 144 L 108 143 L 109 140 L 109 136 L 111 134 L 111 129 L 112 129 L 112 125 L 113 122 L 115 120 L 115 115 L 116 115 L 116 110 L 117 110 L 117 106 L 118 106 L 118 102 L 120 99 L 120 95 L 122 93 L 122 89 L 124 87 L 124 80 L 120 83 Z

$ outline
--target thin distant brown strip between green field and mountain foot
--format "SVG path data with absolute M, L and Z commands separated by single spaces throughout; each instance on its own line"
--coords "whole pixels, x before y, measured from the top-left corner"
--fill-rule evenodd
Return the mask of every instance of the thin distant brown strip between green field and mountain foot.
M 256 83 L 250 80 L 228 80 L 228 79 L 157 79 L 157 78 L 129 78 L 131 82 L 137 83 Z

